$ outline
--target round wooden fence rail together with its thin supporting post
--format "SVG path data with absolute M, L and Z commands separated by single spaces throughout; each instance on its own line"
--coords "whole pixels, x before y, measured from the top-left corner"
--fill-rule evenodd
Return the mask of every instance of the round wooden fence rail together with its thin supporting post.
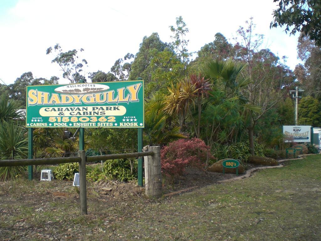
M 147 151 L 103 156 L 86 156 L 85 151 L 79 151 L 79 156 L 74 157 L 0 160 L 0 166 L 51 165 L 79 162 L 80 211 L 82 214 L 87 214 L 86 162 L 113 160 L 121 158 L 134 158 L 141 156 L 153 156 L 154 154 L 155 153 L 153 151 Z

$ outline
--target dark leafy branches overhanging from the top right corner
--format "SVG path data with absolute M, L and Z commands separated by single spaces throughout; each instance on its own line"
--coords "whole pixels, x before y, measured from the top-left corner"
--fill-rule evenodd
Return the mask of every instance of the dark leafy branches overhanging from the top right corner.
M 286 26 L 285 32 L 291 34 L 303 32 L 310 40 L 321 46 L 321 4 L 319 0 L 273 0 L 279 2 L 279 8 L 274 10 L 274 20 L 271 27 Z M 290 30 L 290 27 L 293 28 Z

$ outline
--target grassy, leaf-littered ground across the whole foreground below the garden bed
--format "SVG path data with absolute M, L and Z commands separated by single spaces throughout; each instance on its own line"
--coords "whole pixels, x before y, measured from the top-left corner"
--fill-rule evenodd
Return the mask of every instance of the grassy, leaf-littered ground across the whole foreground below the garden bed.
M 321 155 L 160 200 L 55 199 L 51 183 L 0 183 L 1 240 L 321 240 Z M 55 181 L 56 182 L 56 181 Z M 63 185 L 63 184 L 62 184 Z M 62 189 L 62 186 L 59 186 Z M 65 192 L 76 194 L 73 187 Z

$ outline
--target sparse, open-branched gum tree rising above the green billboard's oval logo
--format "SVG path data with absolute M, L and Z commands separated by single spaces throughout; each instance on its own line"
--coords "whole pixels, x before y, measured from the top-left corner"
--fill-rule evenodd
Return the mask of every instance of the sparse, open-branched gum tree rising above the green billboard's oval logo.
M 83 73 L 84 65 L 87 65 L 86 59 L 82 59 L 79 61 L 78 50 L 73 49 L 67 52 L 63 52 L 60 45 L 57 43 L 54 46 L 54 50 L 52 47 L 47 49 L 46 54 L 53 53 L 56 54 L 56 58 L 54 58 L 51 62 L 57 63 L 60 69 L 63 71 L 63 78 L 68 79 L 71 84 L 79 83 L 80 81 L 87 82 L 86 77 Z M 84 51 L 84 49 L 79 49 L 80 52 Z

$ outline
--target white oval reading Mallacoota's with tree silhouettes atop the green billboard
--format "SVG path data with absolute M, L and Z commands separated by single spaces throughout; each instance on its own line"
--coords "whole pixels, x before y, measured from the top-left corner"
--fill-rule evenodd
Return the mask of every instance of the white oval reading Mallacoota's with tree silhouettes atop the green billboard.
M 73 84 L 64 85 L 55 89 L 55 92 L 61 94 L 91 94 L 103 92 L 109 89 L 107 85 L 93 84 L 93 83 L 83 83 L 83 84 Z

